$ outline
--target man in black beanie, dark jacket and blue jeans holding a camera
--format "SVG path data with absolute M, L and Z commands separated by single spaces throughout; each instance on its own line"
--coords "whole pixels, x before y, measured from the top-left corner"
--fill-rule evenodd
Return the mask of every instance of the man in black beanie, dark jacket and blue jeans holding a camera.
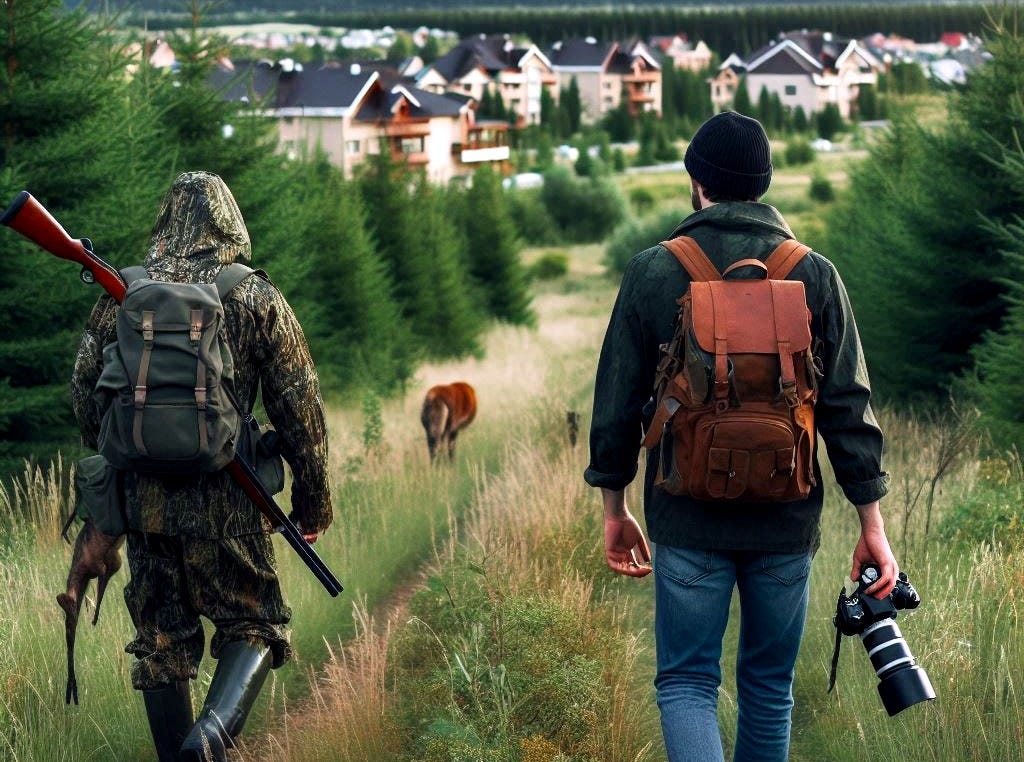
M 765 259 L 793 232 L 758 199 L 771 180 L 771 149 L 762 126 L 725 112 L 697 130 L 685 157 L 693 214 L 670 238 L 689 236 L 723 271 L 740 259 Z M 882 432 L 846 290 L 833 264 L 809 253 L 788 277 L 802 281 L 820 341 L 824 377 L 815 406 L 836 478 L 857 507 L 861 535 L 851 579 L 867 562 L 881 567 L 868 589 L 888 595 L 898 574 L 879 510 L 888 489 Z M 591 462 L 585 478 L 601 488 L 605 553 L 617 574 L 643 577 L 651 567 L 646 539 L 627 508 L 625 488 L 651 397 L 659 346 L 669 342 L 677 299 L 689 276 L 663 246 L 637 254 L 626 269 L 597 370 Z M 736 665 L 738 726 L 734 759 L 787 759 L 793 677 L 807 611 L 811 557 L 819 544 L 822 504 L 817 485 L 805 500 L 735 505 L 673 496 L 653 486 L 648 457 L 644 484 L 647 530 L 655 544 L 657 648 L 655 688 L 669 759 L 723 759 L 717 704 L 722 638 L 732 590 L 740 598 Z

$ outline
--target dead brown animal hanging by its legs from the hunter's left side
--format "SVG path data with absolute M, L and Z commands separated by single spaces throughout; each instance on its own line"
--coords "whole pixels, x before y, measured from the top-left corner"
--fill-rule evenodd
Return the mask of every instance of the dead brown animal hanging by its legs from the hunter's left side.
M 68 518 L 61 536 L 67 542 L 68 530 L 75 514 Z M 124 535 L 104 535 L 92 521 L 86 520 L 75 539 L 75 550 L 71 556 L 71 572 L 68 573 L 68 589 L 57 596 L 57 603 L 65 612 L 65 640 L 68 643 L 68 684 L 65 688 L 65 704 L 78 704 L 78 680 L 75 678 L 75 631 L 78 629 L 78 615 L 85 598 L 89 580 L 96 580 L 96 609 L 92 624 L 99 620 L 99 604 L 110 582 L 121 568 L 121 546 Z

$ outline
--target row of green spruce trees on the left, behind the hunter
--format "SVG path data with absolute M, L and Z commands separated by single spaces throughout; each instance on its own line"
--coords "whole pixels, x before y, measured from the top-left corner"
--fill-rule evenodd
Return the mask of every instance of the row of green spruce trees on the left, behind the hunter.
M 124 267 L 142 260 L 181 171 L 234 194 L 253 261 L 292 302 L 326 392 L 399 387 L 427 358 L 481 351 L 490 320 L 529 324 L 500 178 L 436 188 L 386 150 L 355 180 L 276 153 L 275 126 L 207 86 L 222 43 L 172 40 L 177 74 L 141 67 L 60 0 L 8 0 L 0 20 L 0 206 L 29 189 Z M 137 61 L 136 61 L 137 64 Z M 69 262 L 0 230 L 0 473 L 77 441 L 68 383 L 98 292 Z

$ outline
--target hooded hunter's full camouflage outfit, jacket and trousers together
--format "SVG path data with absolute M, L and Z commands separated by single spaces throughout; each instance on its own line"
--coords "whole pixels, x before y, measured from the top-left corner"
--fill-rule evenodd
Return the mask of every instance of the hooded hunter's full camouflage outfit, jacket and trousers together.
M 221 267 L 249 257 L 249 235 L 224 182 L 207 172 L 180 175 L 157 217 L 144 262 L 150 277 L 211 283 Z M 292 515 L 315 539 L 331 523 L 332 506 L 324 407 L 302 329 L 262 272 L 229 293 L 224 312 L 237 396 L 251 410 L 262 387 L 263 406 L 292 469 Z M 103 346 L 116 340 L 116 314 L 115 302 L 101 296 L 72 380 L 82 440 L 93 449 L 101 418 L 93 389 Z M 166 690 L 196 678 L 204 644 L 200 615 L 216 627 L 215 659 L 225 645 L 242 641 L 268 647 L 274 668 L 284 664 L 290 655 L 291 610 L 281 594 L 269 526 L 230 476 L 224 471 L 161 477 L 126 473 L 125 501 L 131 568 L 125 599 L 136 628 L 126 649 L 137 660 L 134 687 Z M 187 714 L 190 726 L 190 706 Z M 151 715 L 152 727 L 153 720 Z M 156 727 L 154 735 L 159 752 Z

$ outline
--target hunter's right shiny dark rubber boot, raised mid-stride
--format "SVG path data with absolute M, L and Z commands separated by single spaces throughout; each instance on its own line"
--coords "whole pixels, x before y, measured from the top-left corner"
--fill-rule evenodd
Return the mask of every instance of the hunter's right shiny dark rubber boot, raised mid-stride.
M 273 657 L 244 640 L 225 645 L 203 711 L 181 746 L 182 762 L 224 762 L 249 717 Z

